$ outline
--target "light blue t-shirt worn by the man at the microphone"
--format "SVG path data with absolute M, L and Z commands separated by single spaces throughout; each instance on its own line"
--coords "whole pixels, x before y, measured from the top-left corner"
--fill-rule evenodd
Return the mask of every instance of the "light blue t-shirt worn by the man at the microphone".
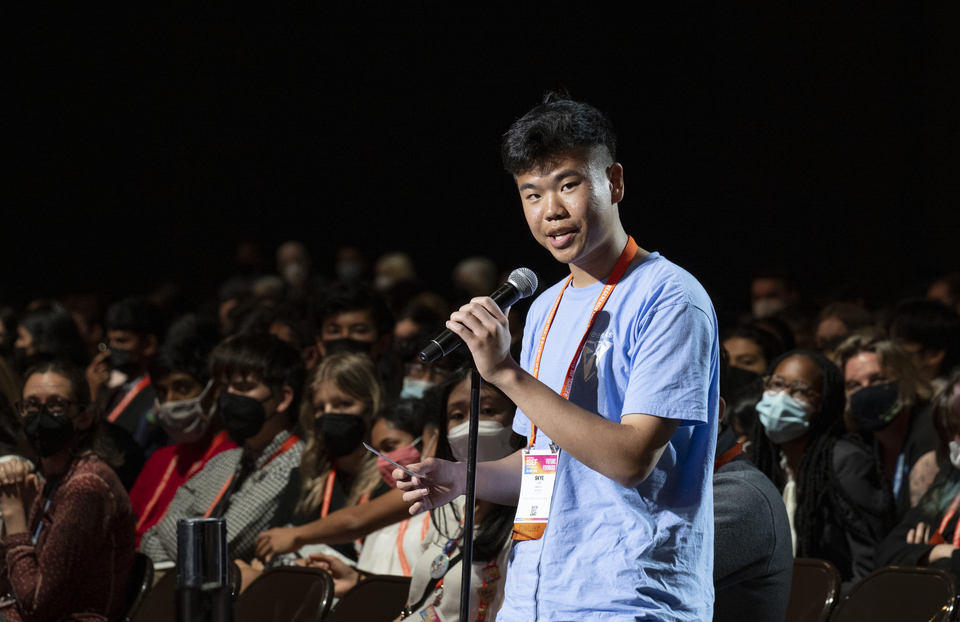
M 527 315 L 521 365 L 563 282 Z M 558 393 L 604 283 L 568 287 L 540 362 Z M 570 401 L 611 421 L 680 419 L 654 471 L 623 488 L 561 451 L 547 530 L 510 555 L 498 622 L 710 620 L 713 617 L 713 459 L 719 343 L 710 298 L 659 253 L 634 262 L 598 314 Z M 513 429 L 530 434 L 519 410 Z M 537 447 L 550 439 L 537 431 Z

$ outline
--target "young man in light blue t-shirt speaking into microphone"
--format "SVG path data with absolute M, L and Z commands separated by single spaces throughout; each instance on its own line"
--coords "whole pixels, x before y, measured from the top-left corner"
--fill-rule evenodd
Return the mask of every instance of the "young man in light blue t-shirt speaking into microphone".
M 615 148 L 602 113 L 552 95 L 510 128 L 503 160 L 530 232 L 570 276 L 533 303 L 520 364 L 489 298 L 447 322 L 528 439 L 477 470 L 478 497 L 518 506 L 498 622 L 713 615 L 716 315 L 624 231 Z M 464 492 L 463 463 L 411 468 L 424 475 L 400 482 L 411 512 Z

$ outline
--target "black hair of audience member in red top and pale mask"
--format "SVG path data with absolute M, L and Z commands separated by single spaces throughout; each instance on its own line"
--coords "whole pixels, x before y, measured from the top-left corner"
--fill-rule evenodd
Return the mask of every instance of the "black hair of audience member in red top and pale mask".
M 213 319 L 184 315 L 170 326 L 163 345 L 150 362 L 150 377 L 165 378 L 174 372 L 187 374 L 199 384 L 210 380 L 209 357 L 220 334 Z

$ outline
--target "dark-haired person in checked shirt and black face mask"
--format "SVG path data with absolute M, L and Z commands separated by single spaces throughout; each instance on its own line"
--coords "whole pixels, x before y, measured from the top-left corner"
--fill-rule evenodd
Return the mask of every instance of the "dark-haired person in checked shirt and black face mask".
M 290 521 L 296 498 L 285 495 L 303 452 L 294 433 L 303 393 L 300 353 L 273 335 L 236 335 L 210 355 L 220 385 L 217 412 L 237 449 L 211 458 L 177 489 L 166 515 L 140 549 L 157 562 L 177 559 L 177 521 L 224 518 L 232 558 L 250 561 L 258 533 Z

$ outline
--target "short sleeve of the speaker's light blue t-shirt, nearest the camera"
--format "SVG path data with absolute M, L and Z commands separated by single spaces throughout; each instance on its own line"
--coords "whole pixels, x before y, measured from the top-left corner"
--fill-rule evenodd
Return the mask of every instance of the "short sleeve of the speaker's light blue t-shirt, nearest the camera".
M 718 353 L 714 323 L 702 309 L 680 302 L 650 311 L 641 318 L 629 352 L 633 367 L 620 416 L 707 423 L 710 394 L 717 390 Z

